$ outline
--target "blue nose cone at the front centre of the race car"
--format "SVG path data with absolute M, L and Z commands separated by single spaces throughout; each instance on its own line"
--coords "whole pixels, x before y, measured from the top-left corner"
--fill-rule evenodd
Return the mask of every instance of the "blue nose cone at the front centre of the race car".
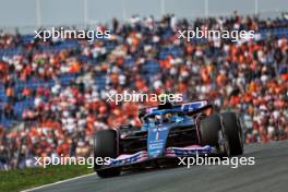
M 154 127 L 148 130 L 147 148 L 149 157 L 164 155 L 169 127 Z

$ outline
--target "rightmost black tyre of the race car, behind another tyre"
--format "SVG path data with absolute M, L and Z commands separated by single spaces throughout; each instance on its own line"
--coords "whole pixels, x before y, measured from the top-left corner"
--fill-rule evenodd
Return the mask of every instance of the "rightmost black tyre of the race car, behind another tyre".
M 243 154 L 243 134 L 240 121 L 235 112 L 224 112 L 223 119 L 224 131 L 227 136 L 230 155 Z

